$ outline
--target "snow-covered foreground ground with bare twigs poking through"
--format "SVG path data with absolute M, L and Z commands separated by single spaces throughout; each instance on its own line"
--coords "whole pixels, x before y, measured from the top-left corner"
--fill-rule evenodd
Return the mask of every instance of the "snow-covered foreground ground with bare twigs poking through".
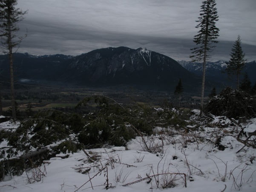
M 216 117 L 212 125 L 224 123 L 220 119 Z M 0 129 L 15 126 L 6 122 Z M 248 136 L 256 130 L 256 119 L 242 128 Z M 86 150 L 90 158 L 83 151 L 59 154 L 0 182 L 0 192 L 255 192 L 256 149 L 242 149 L 244 144 L 236 139 L 239 129 L 206 126 L 187 134 L 169 130 L 169 135 L 144 137 L 147 146 L 137 137 L 126 148 Z M 214 144 L 217 136 L 223 151 Z

